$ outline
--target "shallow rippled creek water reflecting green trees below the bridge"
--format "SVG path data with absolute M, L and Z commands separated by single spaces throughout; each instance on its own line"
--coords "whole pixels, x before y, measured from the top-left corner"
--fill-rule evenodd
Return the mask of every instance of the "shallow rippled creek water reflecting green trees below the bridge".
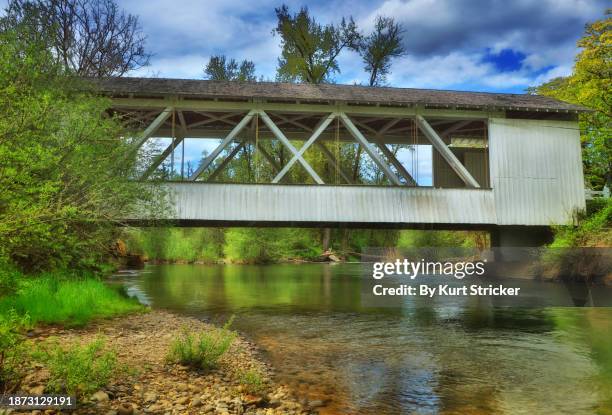
M 612 308 L 415 299 L 371 309 L 360 270 L 156 265 L 116 282 L 153 308 L 220 323 L 235 315 L 277 379 L 326 402 L 323 414 L 612 413 Z

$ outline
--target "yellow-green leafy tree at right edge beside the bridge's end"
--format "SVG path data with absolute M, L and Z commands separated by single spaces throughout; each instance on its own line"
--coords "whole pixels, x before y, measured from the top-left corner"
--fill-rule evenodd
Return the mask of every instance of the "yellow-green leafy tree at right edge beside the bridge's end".
M 610 16 L 611 12 L 606 12 Z M 555 78 L 529 91 L 593 110 L 580 115 L 585 178 L 593 189 L 612 188 L 612 18 L 586 26 L 578 41 L 572 75 Z

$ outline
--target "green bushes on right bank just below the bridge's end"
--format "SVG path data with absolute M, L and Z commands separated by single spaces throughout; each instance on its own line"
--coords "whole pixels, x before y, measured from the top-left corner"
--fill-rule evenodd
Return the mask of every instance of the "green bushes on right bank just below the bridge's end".
M 563 226 L 555 229 L 552 248 L 583 246 L 612 246 L 612 199 L 591 215 L 579 219 L 577 227 Z

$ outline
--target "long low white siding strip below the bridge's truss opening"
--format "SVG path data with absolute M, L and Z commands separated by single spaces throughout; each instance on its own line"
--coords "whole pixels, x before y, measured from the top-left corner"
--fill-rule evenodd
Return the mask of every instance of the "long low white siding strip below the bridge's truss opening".
M 172 183 L 179 220 L 495 224 L 491 190 Z

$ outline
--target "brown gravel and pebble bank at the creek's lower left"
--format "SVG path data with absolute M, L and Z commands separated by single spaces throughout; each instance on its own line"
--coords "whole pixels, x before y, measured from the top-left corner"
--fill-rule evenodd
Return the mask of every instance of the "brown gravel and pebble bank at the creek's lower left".
M 78 409 L 72 412 L 74 414 L 316 413 L 318 402 L 302 405 L 286 386 L 275 383 L 271 368 L 258 357 L 257 348 L 241 337 L 236 339 L 215 370 L 195 371 L 168 363 L 170 344 L 181 330 L 201 331 L 211 327 L 195 318 L 151 311 L 100 321 L 84 329 L 45 328 L 38 330 L 28 341 L 36 343 L 53 336 L 62 343 L 89 343 L 103 335 L 107 346 L 116 351 L 119 364 L 127 368 L 127 374 L 118 376 L 110 385 L 81 400 Z M 247 393 L 238 376 L 245 370 L 262 373 L 269 385 L 268 391 L 260 395 Z M 38 388 L 36 391 L 42 392 L 41 386 L 47 376 L 44 367 L 33 365 L 22 390 Z

